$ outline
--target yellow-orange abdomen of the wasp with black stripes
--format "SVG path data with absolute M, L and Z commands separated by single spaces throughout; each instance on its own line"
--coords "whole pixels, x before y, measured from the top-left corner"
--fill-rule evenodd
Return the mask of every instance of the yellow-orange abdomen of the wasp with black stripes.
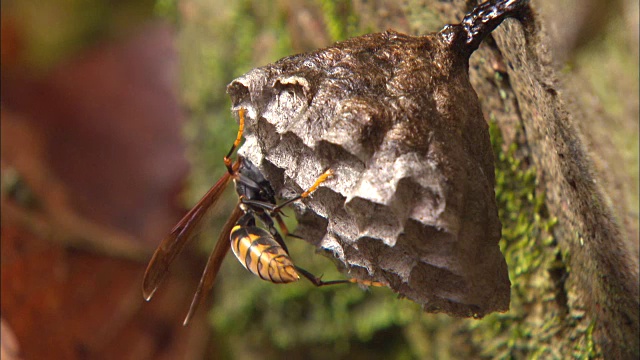
M 300 279 L 289 255 L 266 230 L 236 225 L 230 238 L 240 263 L 260 278 L 277 284 Z

